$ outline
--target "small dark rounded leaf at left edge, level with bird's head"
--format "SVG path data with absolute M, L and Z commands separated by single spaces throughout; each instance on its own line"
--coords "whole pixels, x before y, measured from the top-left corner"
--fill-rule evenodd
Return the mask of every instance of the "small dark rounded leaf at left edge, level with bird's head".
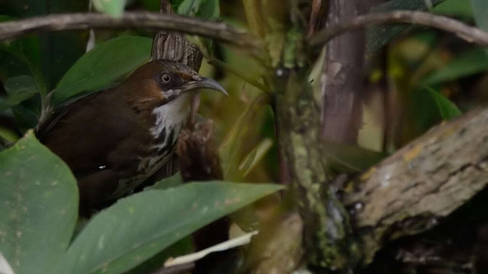
M 36 79 L 26 75 L 7 79 L 4 88 L 9 96 L 0 100 L 0 111 L 16 106 L 39 93 Z

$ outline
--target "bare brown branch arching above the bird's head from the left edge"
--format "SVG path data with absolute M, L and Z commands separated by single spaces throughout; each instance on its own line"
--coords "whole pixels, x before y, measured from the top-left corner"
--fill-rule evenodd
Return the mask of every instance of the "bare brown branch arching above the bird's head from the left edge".
M 126 12 L 120 18 L 100 13 L 53 14 L 0 23 L 0 40 L 32 33 L 76 29 L 172 30 L 222 40 L 239 46 L 256 46 L 245 31 L 225 23 L 153 12 Z

